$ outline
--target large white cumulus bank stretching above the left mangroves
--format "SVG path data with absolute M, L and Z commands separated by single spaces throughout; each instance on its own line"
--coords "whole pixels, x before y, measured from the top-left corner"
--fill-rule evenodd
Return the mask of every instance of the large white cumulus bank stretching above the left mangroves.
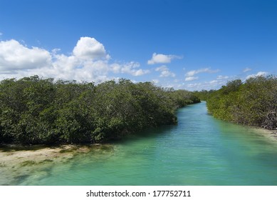
M 59 53 L 61 49 L 47 51 L 29 48 L 14 39 L 0 42 L 0 79 L 21 78 L 37 74 L 43 77 L 78 81 L 106 81 L 110 74 L 142 76 L 150 73 L 140 69 L 137 62 L 110 63 L 110 55 L 99 41 L 81 37 L 70 55 Z

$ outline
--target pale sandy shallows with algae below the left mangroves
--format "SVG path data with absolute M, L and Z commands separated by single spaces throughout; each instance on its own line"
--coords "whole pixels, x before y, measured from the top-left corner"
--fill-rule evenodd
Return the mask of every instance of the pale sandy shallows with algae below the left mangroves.
M 5 146 L 0 148 L 0 185 L 14 185 L 16 180 L 28 176 L 33 167 L 41 171 L 72 159 L 80 153 L 88 153 L 94 145 L 76 146 Z

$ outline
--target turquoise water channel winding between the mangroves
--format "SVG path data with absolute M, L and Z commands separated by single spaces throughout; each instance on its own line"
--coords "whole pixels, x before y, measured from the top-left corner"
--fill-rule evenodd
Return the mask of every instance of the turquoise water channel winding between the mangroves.
M 214 119 L 206 104 L 177 111 L 178 125 L 33 168 L 18 185 L 277 185 L 277 145 Z

